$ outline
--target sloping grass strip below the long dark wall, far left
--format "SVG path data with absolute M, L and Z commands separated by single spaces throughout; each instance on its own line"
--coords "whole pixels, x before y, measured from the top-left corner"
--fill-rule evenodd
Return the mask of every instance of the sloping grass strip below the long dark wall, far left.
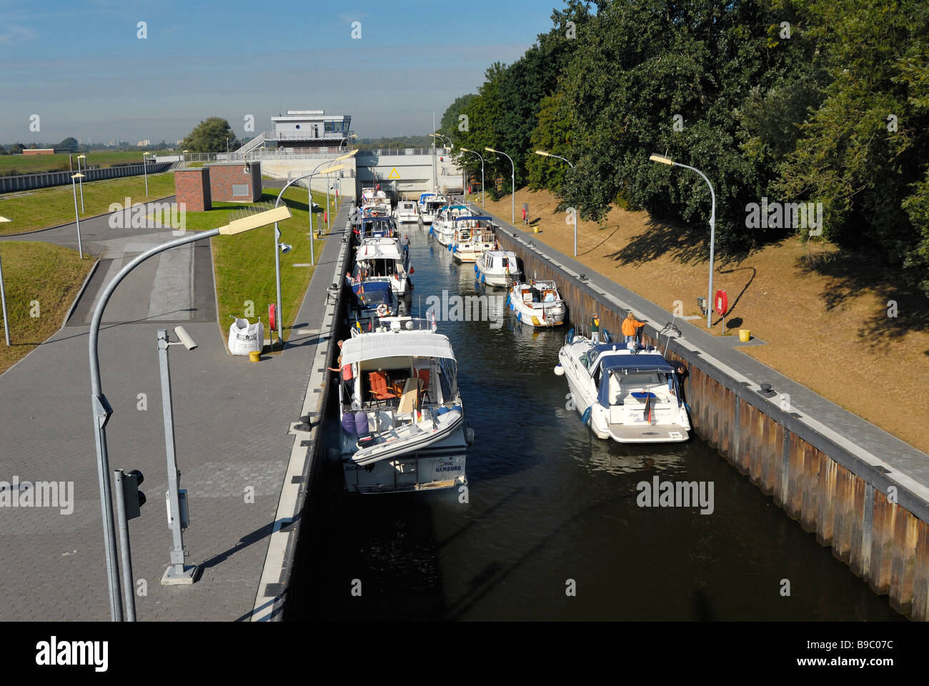
M 0 159 L 3 159 L 0 157 Z M 174 174 L 149 175 L 149 199 L 164 198 L 174 194 Z M 108 178 L 84 184 L 84 209 L 82 217 L 108 212 L 111 203 L 143 202 L 145 178 Z M 77 198 L 78 208 L 81 196 Z M 0 195 L 0 217 L 11 221 L 0 224 L 0 234 L 20 233 L 46 229 L 74 220 L 74 196 L 71 186 L 57 186 L 36 191 L 21 191 Z

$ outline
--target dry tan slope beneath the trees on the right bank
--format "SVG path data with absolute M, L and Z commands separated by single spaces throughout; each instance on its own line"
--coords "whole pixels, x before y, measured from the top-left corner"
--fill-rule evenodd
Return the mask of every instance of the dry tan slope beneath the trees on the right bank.
M 571 255 L 572 227 L 556 212 L 550 192 L 522 189 L 516 202 L 517 223 L 528 202 L 538 239 Z M 510 197 L 488 199 L 487 209 L 509 218 Z M 683 231 L 618 207 L 604 226 L 579 222 L 580 261 L 666 310 L 681 300 L 684 314 L 699 313 L 697 297 L 707 291 L 709 228 Z M 727 327 L 740 318 L 742 327 L 768 344 L 743 350 L 929 452 L 929 302 L 906 286 L 898 290 L 898 281 L 865 257 L 790 238 L 739 262 L 717 259 L 713 288 L 726 290 Z M 889 300 L 896 300 L 896 317 L 888 316 Z M 718 317 L 713 323 L 722 334 Z

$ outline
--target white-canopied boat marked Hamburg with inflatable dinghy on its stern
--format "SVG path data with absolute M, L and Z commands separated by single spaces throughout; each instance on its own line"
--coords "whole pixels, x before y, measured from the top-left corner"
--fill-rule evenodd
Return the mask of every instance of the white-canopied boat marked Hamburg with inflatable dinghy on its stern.
M 346 488 L 363 494 L 467 483 L 457 363 L 447 336 L 425 320 L 382 318 L 342 347 L 341 461 Z

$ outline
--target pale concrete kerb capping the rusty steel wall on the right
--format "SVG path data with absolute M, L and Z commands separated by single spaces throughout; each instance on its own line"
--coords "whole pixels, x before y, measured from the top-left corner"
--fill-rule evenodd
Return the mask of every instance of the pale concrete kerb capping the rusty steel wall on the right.
M 533 243 L 530 245 L 529 242 L 519 235 L 517 230 L 504 228 L 504 222 L 499 218 L 498 222 L 501 224 L 500 231 L 503 231 L 508 237 L 522 244 L 526 250 L 530 250 L 536 255 L 543 257 L 554 269 L 561 271 L 565 278 L 579 284 L 581 290 L 587 295 L 595 297 L 601 302 L 605 299 L 608 300 L 609 302 L 604 303 L 606 307 L 610 307 L 610 304 L 612 304 L 621 310 L 635 310 L 633 306 L 628 305 L 618 297 L 604 293 L 594 288 L 588 282 L 579 279 L 580 275 L 578 273 L 560 264 L 554 257 L 546 254 L 546 252 L 536 244 Z M 648 302 L 653 307 L 662 312 L 666 312 L 670 321 L 672 316 L 670 312 L 661 309 L 658 305 L 650 301 Z M 658 331 L 661 329 L 661 325 L 646 316 L 642 316 L 641 319 L 646 323 L 645 333 L 660 342 Z M 755 383 L 747 376 L 739 374 L 739 372 L 726 365 L 726 363 L 717 360 L 710 353 L 700 349 L 700 346 L 687 340 L 686 336 L 673 338 L 668 350 L 674 352 L 674 354 L 678 355 L 688 364 L 693 364 L 700 368 L 700 371 L 713 378 L 717 383 L 733 391 L 741 400 L 752 404 L 752 406 L 763 414 L 775 419 L 779 424 L 785 427 L 785 429 L 789 429 L 805 442 L 808 442 L 822 453 L 829 455 L 838 464 L 870 483 L 874 488 L 881 491 L 881 493 L 886 495 L 889 486 L 896 486 L 898 492 L 897 503 L 900 507 L 908 509 L 909 512 L 922 521 L 929 521 L 929 488 L 922 483 L 916 482 L 904 472 L 893 468 L 890 464 L 884 462 L 860 445 L 844 439 L 839 432 L 830 429 L 815 418 L 801 415 L 799 412 L 790 413 L 780 409 L 778 403 L 775 402 L 777 398 L 764 398 L 758 394 L 757 391 L 761 390 L 760 384 Z M 802 384 L 798 385 L 802 386 Z M 809 392 L 814 393 L 812 390 L 809 390 Z M 874 427 L 874 429 L 883 431 L 883 429 L 878 427 Z

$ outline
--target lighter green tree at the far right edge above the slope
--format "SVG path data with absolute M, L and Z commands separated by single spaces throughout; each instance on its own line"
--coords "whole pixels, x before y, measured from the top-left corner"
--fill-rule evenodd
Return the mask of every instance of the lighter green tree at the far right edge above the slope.
M 903 267 L 929 293 L 929 6 L 805 0 L 796 8 L 831 82 L 780 165 L 779 189 L 823 204 L 826 238 Z

